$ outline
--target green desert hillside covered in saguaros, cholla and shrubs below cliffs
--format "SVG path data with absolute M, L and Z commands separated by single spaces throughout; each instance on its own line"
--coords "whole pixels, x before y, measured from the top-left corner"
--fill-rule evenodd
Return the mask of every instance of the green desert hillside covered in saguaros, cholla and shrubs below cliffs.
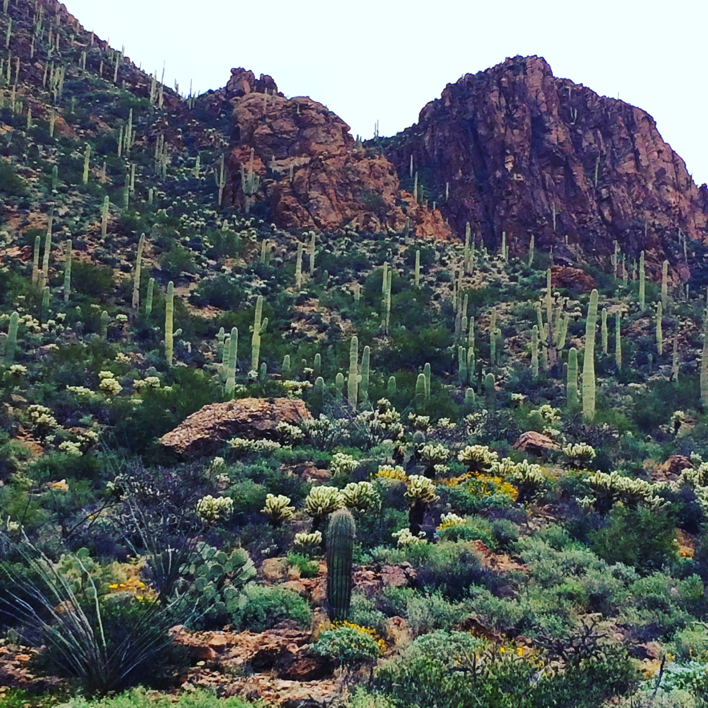
M 175 625 L 312 629 L 353 708 L 705 705 L 706 293 L 619 246 L 569 290 L 511 242 L 224 207 L 229 116 L 54 7 L 0 15 L 0 629 L 60 688 L 0 708 L 253 702 L 182 690 Z M 159 443 L 253 397 L 312 418 Z M 268 559 L 326 560 L 326 601 Z

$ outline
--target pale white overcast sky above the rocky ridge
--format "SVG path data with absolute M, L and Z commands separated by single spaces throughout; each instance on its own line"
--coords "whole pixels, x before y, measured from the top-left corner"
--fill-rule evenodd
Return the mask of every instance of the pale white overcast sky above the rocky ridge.
M 218 89 L 231 67 L 270 74 L 352 128 L 392 135 L 445 84 L 515 55 L 656 119 L 708 182 L 705 0 L 64 0 L 88 30 L 166 83 Z

